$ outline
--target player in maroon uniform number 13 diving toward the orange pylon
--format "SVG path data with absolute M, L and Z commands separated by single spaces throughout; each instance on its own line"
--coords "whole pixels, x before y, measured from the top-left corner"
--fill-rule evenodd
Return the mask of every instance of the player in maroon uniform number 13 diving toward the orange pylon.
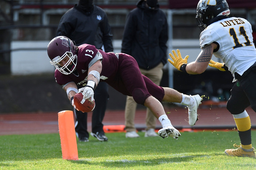
M 163 138 L 170 136 L 177 139 L 181 134 L 172 126 L 161 101 L 188 106 L 189 124 L 193 126 L 196 123 L 197 108 L 202 98 L 199 95 L 188 96 L 174 89 L 155 85 L 140 73 L 136 60 L 130 55 L 106 53 L 89 44 L 76 47 L 64 36 L 53 38 L 48 44 L 47 53 L 51 59 L 50 63 L 56 67 L 56 82 L 63 85 L 73 106 L 78 86 L 84 86 L 78 91 L 83 92 L 84 99 L 92 97 L 93 100 L 98 82 L 105 81 L 122 94 L 133 96 L 136 103 L 151 109 L 162 124 L 163 128 L 158 134 Z

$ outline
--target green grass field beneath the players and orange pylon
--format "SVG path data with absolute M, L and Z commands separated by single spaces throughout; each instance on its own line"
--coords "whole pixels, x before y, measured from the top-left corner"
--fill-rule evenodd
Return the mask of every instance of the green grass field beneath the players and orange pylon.
M 63 160 L 60 136 L 55 134 L 0 136 L 0 169 L 255 169 L 256 159 L 228 157 L 225 149 L 240 144 L 237 130 L 184 132 L 173 138 L 125 138 L 107 133 L 108 142 L 90 137 L 78 142 L 78 161 Z M 252 131 L 255 144 L 256 131 Z

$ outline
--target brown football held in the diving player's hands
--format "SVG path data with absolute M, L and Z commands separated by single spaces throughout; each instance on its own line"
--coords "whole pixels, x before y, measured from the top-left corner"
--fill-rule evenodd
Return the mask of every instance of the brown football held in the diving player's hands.
M 74 96 L 74 104 L 75 107 L 79 110 L 79 111 L 83 111 L 83 112 L 90 112 L 94 110 L 95 107 L 95 102 L 94 100 L 91 101 L 91 98 L 85 100 L 83 99 L 83 94 L 82 93 L 76 93 Z

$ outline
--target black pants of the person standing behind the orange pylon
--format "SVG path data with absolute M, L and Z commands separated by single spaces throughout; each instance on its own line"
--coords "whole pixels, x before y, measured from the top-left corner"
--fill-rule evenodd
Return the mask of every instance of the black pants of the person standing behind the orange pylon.
M 109 86 L 105 82 L 100 82 L 94 92 L 95 108 L 92 115 L 92 133 L 103 132 L 103 118 L 105 116 L 105 110 L 107 107 L 109 93 Z M 75 109 L 74 109 L 75 110 Z M 76 135 L 81 137 L 88 137 L 87 131 L 87 113 L 75 110 L 76 124 L 75 132 Z

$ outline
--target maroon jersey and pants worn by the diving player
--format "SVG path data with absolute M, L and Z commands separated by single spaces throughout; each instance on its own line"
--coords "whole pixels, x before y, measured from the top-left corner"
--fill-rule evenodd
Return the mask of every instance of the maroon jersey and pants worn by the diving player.
M 100 54 L 97 54 L 98 52 Z M 85 86 L 88 68 L 99 59 L 102 59 L 100 81 L 107 82 L 124 95 L 135 96 L 133 93 L 139 92 L 145 99 L 152 95 L 162 101 L 164 90 L 140 73 L 139 66 L 132 56 L 124 53 L 106 53 L 89 44 L 79 46 L 75 72 L 65 75 L 55 70 L 56 82 L 65 85 L 73 81 L 78 88 Z

